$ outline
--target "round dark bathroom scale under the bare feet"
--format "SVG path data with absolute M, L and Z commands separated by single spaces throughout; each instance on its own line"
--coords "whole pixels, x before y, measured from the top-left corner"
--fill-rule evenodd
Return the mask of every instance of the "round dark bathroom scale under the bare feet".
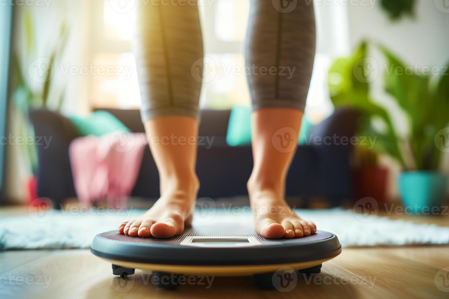
M 267 239 L 252 225 L 233 222 L 194 225 L 167 239 L 130 237 L 116 230 L 95 236 L 91 252 L 112 264 L 122 278 L 135 269 L 153 277 L 170 275 L 254 275 L 261 289 L 273 289 L 273 274 L 280 269 L 320 273 L 321 264 L 341 253 L 335 234 L 318 230 L 292 239 Z M 287 267 L 287 268 L 285 268 Z M 162 281 L 162 280 L 161 280 Z M 174 289 L 176 282 L 158 285 Z

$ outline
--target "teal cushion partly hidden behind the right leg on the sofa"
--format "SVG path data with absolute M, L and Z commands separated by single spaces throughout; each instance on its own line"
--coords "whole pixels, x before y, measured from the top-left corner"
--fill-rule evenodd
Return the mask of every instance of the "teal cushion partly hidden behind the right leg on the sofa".
M 298 143 L 306 143 L 313 124 L 303 117 Z M 229 146 L 241 146 L 251 144 L 251 108 L 248 106 L 233 106 L 229 116 L 226 143 Z

